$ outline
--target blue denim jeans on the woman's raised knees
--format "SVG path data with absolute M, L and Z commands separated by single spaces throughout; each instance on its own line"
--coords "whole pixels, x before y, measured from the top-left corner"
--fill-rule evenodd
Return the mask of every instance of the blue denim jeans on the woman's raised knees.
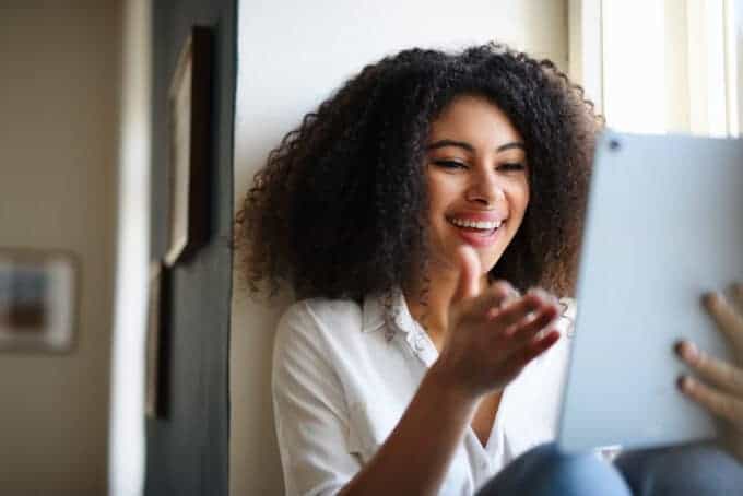
M 554 444 L 514 460 L 477 496 L 743 496 L 743 465 L 711 445 L 629 451 L 615 464 Z

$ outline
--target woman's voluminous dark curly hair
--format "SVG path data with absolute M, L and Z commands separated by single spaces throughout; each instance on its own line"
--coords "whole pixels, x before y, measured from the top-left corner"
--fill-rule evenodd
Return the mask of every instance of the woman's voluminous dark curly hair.
M 284 137 L 248 190 L 236 241 L 251 292 L 363 299 L 427 267 L 425 144 L 459 95 L 500 108 L 524 140 L 531 200 L 491 270 L 570 295 L 597 131 L 580 86 L 504 45 L 408 49 L 365 67 Z

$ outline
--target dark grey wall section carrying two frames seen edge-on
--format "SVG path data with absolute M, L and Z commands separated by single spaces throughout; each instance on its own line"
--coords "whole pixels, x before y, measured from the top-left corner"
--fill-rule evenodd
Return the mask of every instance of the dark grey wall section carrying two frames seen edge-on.
M 153 2 L 152 253 L 167 243 L 167 91 L 193 25 L 214 29 L 207 246 L 173 271 L 166 416 L 148 420 L 146 495 L 228 494 L 236 0 Z

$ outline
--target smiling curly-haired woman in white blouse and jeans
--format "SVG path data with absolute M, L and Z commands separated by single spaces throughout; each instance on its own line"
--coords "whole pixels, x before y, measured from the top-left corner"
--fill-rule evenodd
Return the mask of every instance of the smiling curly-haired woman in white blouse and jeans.
M 271 153 L 239 221 L 252 290 L 300 299 L 274 350 L 288 494 L 472 494 L 547 459 L 568 349 L 552 294 L 573 288 L 599 127 L 547 61 L 412 49 Z

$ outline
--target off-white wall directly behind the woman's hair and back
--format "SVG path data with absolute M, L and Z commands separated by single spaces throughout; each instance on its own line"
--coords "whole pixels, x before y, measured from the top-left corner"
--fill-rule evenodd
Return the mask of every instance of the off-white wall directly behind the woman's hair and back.
M 412 46 L 509 43 L 567 69 L 566 0 L 243 0 L 238 21 L 235 204 L 269 151 L 363 66 Z M 236 269 L 239 265 L 236 264 Z M 231 494 L 281 494 L 270 397 L 282 303 L 247 298 L 235 273 Z

